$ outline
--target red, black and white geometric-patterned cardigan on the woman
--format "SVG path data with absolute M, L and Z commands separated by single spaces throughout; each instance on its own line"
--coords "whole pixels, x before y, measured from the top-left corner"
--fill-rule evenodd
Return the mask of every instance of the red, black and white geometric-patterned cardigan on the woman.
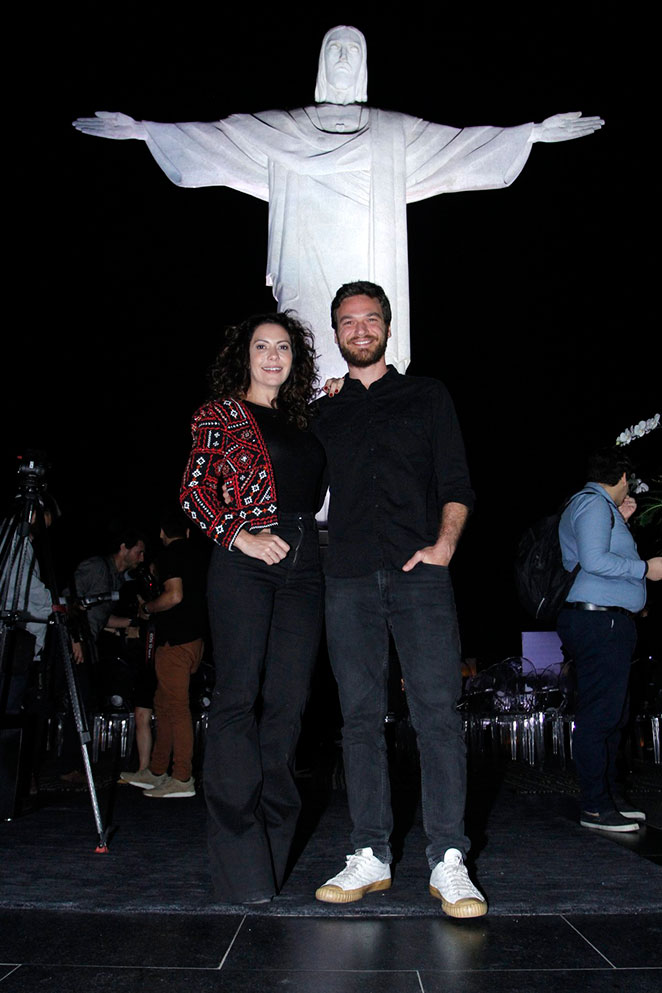
M 257 531 L 277 524 L 271 459 L 246 405 L 230 397 L 205 404 L 193 415 L 191 433 L 179 497 L 191 520 L 224 548 L 232 548 L 243 527 Z M 223 483 L 230 504 L 220 492 Z

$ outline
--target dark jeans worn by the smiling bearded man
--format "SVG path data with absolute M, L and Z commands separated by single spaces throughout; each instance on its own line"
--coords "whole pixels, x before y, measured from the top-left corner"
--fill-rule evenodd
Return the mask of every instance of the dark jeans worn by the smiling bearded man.
M 419 564 L 358 578 L 326 579 L 329 655 L 342 707 L 343 756 L 353 848 L 391 861 L 393 828 L 384 740 L 388 634 L 400 658 L 421 760 L 430 868 L 448 848 L 466 854 L 466 747 L 456 709 L 460 642 L 448 569 Z

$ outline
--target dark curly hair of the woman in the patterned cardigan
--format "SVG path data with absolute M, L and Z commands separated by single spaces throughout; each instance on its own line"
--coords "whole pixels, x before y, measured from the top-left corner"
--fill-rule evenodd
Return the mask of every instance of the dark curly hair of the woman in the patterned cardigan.
M 290 336 L 292 369 L 278 391 L 274 406 L 282 410 L 288 421 L 305 428 L 310 420 L 309 404 L 318 382 L 315 365 L 315 339 L 312 331 L 286 310 L 279 314 L 254 314 L 241 324 L 226 328 L 223 347 L 209 370 L 211 398 L 245 398 L 251 382 L 250 343 L 260 324 L 278 324 Z

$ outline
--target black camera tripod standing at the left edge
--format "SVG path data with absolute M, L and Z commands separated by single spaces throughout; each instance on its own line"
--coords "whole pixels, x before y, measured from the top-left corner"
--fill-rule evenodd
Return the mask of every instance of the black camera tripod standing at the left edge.
M 32 546 L 31 533 L 39 530 L 46 533 L 45 512 L 46 493 L 45 458 L 37 452 L 26 453 L 18 470 L 18 492 L 16 509 L 0 525 L 0 718 L 12 710 L 16 711 L 19 700 L 17 688 L 20 689 L 21 677 L 15 666 L 14 633 L 24 627 L 40 624 L 51 624 L 53 627 L 56 651 L 62 661 L 66 678 L 67 693 L 71 712 L 80 742 L 85 777 L 92 804 L 94 821 L 97 830 L 98 853 L 108 851 L 108 828 L 104 828 L 97 798 L 92 767 L 90 765 L 89 743 L 91 735 L 87 726 L 85 708 L 81 703 L 81 693 L 76 678 L 69 632 L 66 623 L 67 608 L 58 601 L 55 585 L 55 575 L 47 541 L 41 566 L 43 576 L 40 576 L 35 552 Z M 31 591 L 36 584 L 46 588 L 50 593 L 51 612 L 49 616 L 36 616 L 31 612 Z

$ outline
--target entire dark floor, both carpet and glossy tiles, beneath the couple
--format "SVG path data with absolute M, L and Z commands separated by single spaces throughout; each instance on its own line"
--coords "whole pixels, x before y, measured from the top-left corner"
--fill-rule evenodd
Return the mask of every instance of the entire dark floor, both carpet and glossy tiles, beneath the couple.
M 471 870 L 490 913 L 446 918 L 427 892 L 415 789 L 396 789 L 391 890 L 334 907 L 316 886 L 342 866 L 341 789 L 302 779 L 297 858 L 259 912 L 212 902 L 204 802 L 149 800 L 100 777 L 110 851 L 95 853 L 85 792 L 46 790 L 0 825 L 0 989 L 262 993 L 563 993 L 662 988 L 662 774 L 640 768 L 636 835 L 576 822 L 574 781 L 519 763 L 474 770 Z

